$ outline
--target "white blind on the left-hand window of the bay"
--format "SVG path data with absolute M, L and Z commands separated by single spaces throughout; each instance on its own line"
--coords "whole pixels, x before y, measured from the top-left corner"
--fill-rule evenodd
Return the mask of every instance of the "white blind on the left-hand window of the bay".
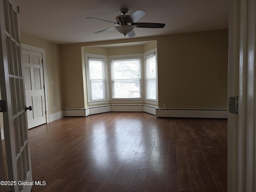
M 107 99 L 105 60 L 89 58 L 90 99 Z

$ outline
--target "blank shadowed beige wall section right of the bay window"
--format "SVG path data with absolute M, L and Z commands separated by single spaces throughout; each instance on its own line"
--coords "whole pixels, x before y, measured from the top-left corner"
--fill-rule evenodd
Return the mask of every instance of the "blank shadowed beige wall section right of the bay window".
M 158 38 L 159 107 L 227 108 L 228 30 Z

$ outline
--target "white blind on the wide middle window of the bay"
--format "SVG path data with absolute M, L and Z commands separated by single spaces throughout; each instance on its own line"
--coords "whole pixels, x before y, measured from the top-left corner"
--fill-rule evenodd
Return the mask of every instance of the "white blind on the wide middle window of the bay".
M 111 61 L 112 98 L 141 98 L 140 58 Z

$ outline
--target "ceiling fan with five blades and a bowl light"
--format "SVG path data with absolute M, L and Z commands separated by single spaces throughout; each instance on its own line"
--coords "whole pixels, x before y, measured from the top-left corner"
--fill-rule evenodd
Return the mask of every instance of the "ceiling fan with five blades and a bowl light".
M 87 17 L 87 19 L 109 22 L 109 23 L 119 25 L 117 27 L 111 27 L 111 28 L 108 28 L 108 29 L 104 29 L 104 30 L 101 30 L 101 31 L 94 32 L 94 33 L 100 33 L 100 32 L 104 32 L 104 31 L 116 29 L 118 32 L 120 32 L 124 36 L 127 35 L 128 37 L 134 37 L 135 36 L 135 32 L 133 30 L 134 27 L 138 27 L 138 28 L 164 28 L 164 26 L 165 26 L 165 24 L 163 24 L 163 23 L 136 23 L 136 21 L 138 21 L 140 18 L 142 18 L 147 13 L 146 11 L 137 10 L 137 11 L 133 12 L 132 14 L 127 15 L 128 9 L 120 9 L 120 13 L 122 15 L 119 15 L 119 16 L 116 17 L 116 22 L 103 20 L 103 19 L 92 18 L 92 17 Z

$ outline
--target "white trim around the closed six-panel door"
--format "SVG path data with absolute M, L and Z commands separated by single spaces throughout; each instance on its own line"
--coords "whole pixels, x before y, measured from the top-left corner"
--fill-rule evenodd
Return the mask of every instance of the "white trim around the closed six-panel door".
M 45 49 L 27 45 L 27 44 L 21 44 L 21 48 L 24 50 L 34 51 L 34 52 L 40 52 L 42 53 L 42 59 L 43 59 L 43 76 L 44 76 L 44 96 L 45 96 L 45 110 L 46 110 L 46 123 L 50 122 L 50 114 L 49 114 L 49 96 L 48 96 L 48 84 L 47 84 L 47 70 L 46 70 L 46 54 Z

